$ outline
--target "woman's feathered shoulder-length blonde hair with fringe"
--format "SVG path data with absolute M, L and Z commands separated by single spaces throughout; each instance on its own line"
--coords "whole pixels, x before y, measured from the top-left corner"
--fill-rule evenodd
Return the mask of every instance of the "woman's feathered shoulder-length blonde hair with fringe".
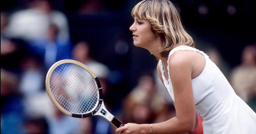
M 169 52 L 179 45 L 195 47 L 194 40 L 183 28 L 180 15 L 172 2 L 143 0 L 133 7 L 131 14 L 133 18 L 149 20 L 151 30 L 161 36 L 163 47 L 160 54 L 162 57 L 167 57 Z

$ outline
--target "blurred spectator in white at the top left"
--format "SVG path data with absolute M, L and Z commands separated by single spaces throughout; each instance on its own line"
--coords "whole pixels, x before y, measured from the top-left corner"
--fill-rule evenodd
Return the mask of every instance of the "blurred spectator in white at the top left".
M 10 17 L 7 34 L 10 37 L 37 40 L 47 36 L 47 28 L 54 23 L 58 29 L 58 40 L 69 40 L 66 15 L 52 8 L 49 0 L 32 0 L 28 8 L 14 12 Z

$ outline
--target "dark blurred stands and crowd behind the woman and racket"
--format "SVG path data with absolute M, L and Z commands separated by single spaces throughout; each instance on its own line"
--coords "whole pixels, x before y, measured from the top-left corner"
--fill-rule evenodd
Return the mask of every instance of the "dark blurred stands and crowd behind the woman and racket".
M 101 117 L 75 119 L 53 106 L 45 76 L 63 59 L 92 69 L 108 110 L 122 122 L 152 123 L 175 116 L 156 76 L 156 58 L 133 45 L 129 27 L 138 2 L 1 1 L 1 133 L 115 133 Z M 172 2 L 196 48 L 210 56 L 256 111 L 255 1 Z M 202 133 L 202 125 L 194 133 Z

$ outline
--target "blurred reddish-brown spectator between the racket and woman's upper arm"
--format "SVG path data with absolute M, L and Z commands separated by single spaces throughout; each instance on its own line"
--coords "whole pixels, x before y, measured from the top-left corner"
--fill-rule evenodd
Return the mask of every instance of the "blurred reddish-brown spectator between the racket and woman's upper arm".
M 157 93 L 155 80 L 148 74 L 142 75 L 137 86 L 124 100 L 125 122 L 149 123 L 156 119 L 155 114 L 163 112 L 163 100 Z

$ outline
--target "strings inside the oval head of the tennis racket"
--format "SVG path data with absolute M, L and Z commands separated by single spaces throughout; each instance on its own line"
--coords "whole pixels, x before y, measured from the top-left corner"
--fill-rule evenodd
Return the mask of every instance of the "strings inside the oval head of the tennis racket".
M 88 113 L 98 103 L 97 83 L 81 66 L 59 65 L 50 78 L 53 97 L 71 113 Z

